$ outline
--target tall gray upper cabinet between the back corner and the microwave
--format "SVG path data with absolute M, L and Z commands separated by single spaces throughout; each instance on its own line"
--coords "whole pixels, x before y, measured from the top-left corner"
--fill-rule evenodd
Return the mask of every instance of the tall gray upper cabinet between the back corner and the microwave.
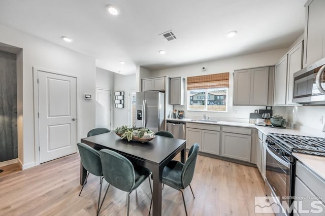
M 275 65 L 274 106 L 298 105 L 293 103 L 294 74 L 302 68 L 304 41 L 299 42 Z

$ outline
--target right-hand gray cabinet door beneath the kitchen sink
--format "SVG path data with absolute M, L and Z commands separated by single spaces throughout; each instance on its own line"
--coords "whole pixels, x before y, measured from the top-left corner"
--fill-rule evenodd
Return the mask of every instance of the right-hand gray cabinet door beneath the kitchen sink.
M 202 130 L 202 152 L 220 154 L 220 132 Z

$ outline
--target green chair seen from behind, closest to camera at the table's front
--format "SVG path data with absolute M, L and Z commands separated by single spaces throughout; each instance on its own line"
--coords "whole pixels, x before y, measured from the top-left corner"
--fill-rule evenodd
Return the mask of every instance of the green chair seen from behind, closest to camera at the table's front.
M 129 212 L 130 194 L 137 189 L 141 183 L 151 174 L 151 171 L 145 167 L 137 166 L 131 163 L 127 158 L 117 152 L 108 149 L 102 149 L 101 161 L 105 180 L 109 183 L 105 192 L 100 212 L 110 185 L 117 189 L 127 192 L 127 215 Z M 149 179 L 149 178 L 148 178 Z M 150 191 L 151 183 L 150 184 Z

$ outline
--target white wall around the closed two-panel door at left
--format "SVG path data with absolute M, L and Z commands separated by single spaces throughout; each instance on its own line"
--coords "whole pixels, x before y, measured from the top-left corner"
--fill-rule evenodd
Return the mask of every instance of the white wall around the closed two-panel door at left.
M 0 25 L 0 42 L 23 49 L 22 60 L 19 60 L 22 62 L 22 82 L 17 79 L 18 83 L 22 83 L 23 92 L 22 111 L 19 110 L 21 101 L 18 101 L 18 148 L 20 151 L 23 149 L 23 154 L 20 152 L 18 159 L 23 168 L 28 168 L 35 165 L 32 67 L 47 68 L 78 77 L 79 140 L 95 125 L 95 100 L 83 99 L 85 93 L 95 94 L 95 59 L 3 25 Z

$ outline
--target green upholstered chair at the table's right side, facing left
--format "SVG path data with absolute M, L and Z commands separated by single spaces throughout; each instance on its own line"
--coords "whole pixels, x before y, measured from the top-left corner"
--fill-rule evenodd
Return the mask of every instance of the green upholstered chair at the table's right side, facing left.
M 187 210 L 186 210 L 186 204 L 185 204 L 184 194 L 182 190 L 187 188 L 187 186 L 189 186 L 192 195 L 194 197 L 194 193 L 190 183 L 194 175 L 194 169 L 197 162 L 198 153 L 199 153 L 199 144 L 195 143 L 189 149 L 185 164 L 173 160 L 169 162 L 164 167 L 163 170 L 163 184 L 168 185 L 176 190 L 179 190 L 182 193 L 186 215 L 187 215 Z M 151 210 L 151 204 L 150 204 L 150 210 Z

